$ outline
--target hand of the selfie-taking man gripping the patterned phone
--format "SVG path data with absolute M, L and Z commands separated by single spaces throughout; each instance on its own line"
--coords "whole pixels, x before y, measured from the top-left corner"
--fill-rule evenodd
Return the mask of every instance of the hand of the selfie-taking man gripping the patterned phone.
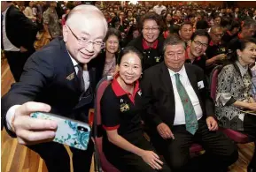
M 19 105 L 17 105 L 19 106 Z M 21 145 L 35 145 L 50 141 L 55 137 L 57 123 L 34 119 L 29 115 L 35 111 L 49 112 L 50 106 L 41 102 L 29 101 L 14 109 L 10 129 L 15 132 Z

